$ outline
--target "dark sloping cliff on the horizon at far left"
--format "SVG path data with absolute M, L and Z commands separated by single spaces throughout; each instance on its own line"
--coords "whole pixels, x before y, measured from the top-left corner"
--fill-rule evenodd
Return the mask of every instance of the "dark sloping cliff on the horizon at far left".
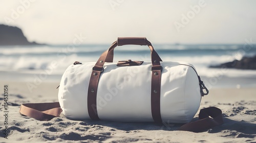
M 33 45 L 29 42 L 21 29 L 12 26 L 0 25 L 0 45 Z

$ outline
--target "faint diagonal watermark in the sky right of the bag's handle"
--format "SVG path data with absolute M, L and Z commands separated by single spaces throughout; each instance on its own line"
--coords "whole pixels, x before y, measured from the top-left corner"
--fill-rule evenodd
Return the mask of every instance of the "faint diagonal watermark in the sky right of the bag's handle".
M 199 0 L 198 5 L 195 6 L 189 6 L 191 10 L 189 10 L 186 15 L 183 13 L 181 14 L 181 20 L 180 22 L 175 21 L 174 26 L 177 29 L 178 32 L 180 32 L 181 28 L 184 28 L 191 19 L 195 18 L 195 16 L 201 11 L 201 8 L 204 8 L 206 6 L 206 3 L 204 0 Z

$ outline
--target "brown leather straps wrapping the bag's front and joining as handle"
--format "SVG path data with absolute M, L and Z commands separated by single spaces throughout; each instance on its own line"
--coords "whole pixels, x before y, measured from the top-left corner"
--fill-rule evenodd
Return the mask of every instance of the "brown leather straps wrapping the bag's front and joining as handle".
M 133 41 L 135 40 L 135 41 Z M 121 42 L 118 44 L 118 42 Z M 161 114 L 160 114 L 160 89 L 161 89 L 161 70 L 162 67 L 160 65 L 161 58 L 154 50 L 151 42 L 146 38 L 118 38 L 118 41 L 115 41 L 108 50 L 103 52 L 93 67 L 93 71 L 91 74 L 89 88 L 88 88 L 88 113 L 92 120 L 99 120 L 97 114 L 97 88 L 100 74 L 103 72 L 103 65 L 106 60 L 112 59 L 108 58 L 109 53 L 112 53 L 117 45 L 125 45 L 125 44 L 142 44 L 148 45 L 151 50 L 151 61 L 152 61 L 152 83 L 151 83 L 151 103 L 152 103 L 152 117 L 155 122 L 161 122 Z

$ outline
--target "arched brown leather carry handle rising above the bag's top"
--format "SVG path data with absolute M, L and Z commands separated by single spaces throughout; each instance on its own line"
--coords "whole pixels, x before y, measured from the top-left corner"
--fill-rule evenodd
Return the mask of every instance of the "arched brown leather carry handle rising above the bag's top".
M 109 51 L 106 54 L 105 62 L 113 62 L 114 49 L 116 46 L 129 45 L 129 44 L 147 45 L 148 47 L 150 47 L 151 52 L 154 50 L 154 47 L 152 46 L 151 42 L 148 41 L 145 37 L 118 37 L 117 41 L 115 41 L 109 48 Z M 157 56 L 159 61 L 162 61 L 162 59 L 159 57 L 159 55 L 156 52 L 154 55 Z

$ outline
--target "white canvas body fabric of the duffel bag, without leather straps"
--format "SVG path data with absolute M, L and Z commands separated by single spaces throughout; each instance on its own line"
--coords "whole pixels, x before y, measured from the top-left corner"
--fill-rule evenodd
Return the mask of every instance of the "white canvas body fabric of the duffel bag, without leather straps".
M 97 90 L 100 120 L 154 122 L 151 112 L 152 62 L 136 66 L 104 63 Z M 160 111 L 163 122 L 188 123 L 201 101 L 199 79 L 193 65 L 160 62 Z M 95 62 L 70 65 L 63 74 L 58 99 L 63 113 L 71 119 L 90 119 L 87 94 Z

